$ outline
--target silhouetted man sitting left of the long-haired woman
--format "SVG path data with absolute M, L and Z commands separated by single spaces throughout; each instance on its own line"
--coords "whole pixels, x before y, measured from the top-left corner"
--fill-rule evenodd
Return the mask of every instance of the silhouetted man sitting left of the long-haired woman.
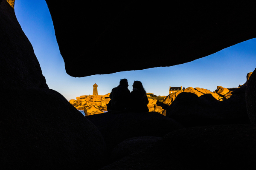
M 110 101 L 108 103 L 108 112 L 125 111 L 128 105 L 130 91 L 128 90 L 127 79 L 121 79 L 119 86 L 113 88 L 109 95 Z

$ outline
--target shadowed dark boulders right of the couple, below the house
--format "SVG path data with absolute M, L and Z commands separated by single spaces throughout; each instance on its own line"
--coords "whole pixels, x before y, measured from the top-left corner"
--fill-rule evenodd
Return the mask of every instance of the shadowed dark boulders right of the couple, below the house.
M 229 99 L 217 102 L 211 94 L 198 97 L 193 93 L 180 93 L 166 109 L 166 116 L 186 127 L 248 123 L 245 105 L 245 87 Z M 207 95 L 207 96 L 205 96 Z

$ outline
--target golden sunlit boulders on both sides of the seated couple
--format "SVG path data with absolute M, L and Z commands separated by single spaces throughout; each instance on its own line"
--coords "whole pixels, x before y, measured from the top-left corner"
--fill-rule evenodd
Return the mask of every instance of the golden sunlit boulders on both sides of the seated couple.
M 223 88 L 221 86 L 217 87 L 218 91 L 211 92 L 204 88 L 186 88 L 181 91 L 177 91 L 175 93 L 169 94 L 168 96 L 156 96 L 153 93 L 147 93 L 148 97 L 148 109 L 150 112 L 158 112 L 165 115 L 166 108 L 172 104 L 172 102 L 176 99 L 176 97 L 182 93 L 193 93 L 198 97 L 204 94 L 211 94 L 217 101 L 223 101 L 230 96 L 232 96 L 232 91 L 227 88 Z M 101 96 L 101 95 L 84 95 L 77 97 L 76 100 L 71 99 L 69 102 L 73 106 L 75 106 L 78 110 L 84 110 L 85 115 L 99 114 L 103 113 L 103 111 L 107 111 L 107 104 L 110 101 L 109 98 L 110 93 Z M 162 100 L 163 102 L 160 102 Z M 90 107 L 93 106 L 93 107 Z

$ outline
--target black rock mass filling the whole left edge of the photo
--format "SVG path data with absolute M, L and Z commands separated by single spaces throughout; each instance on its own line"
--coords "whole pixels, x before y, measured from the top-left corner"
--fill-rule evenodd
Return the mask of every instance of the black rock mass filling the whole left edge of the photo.
M 102 135 L 61 94 L 48 88 L 32 45 L 6 0 L 0 0 L 0 59 L 1 168 L 102 167 Z

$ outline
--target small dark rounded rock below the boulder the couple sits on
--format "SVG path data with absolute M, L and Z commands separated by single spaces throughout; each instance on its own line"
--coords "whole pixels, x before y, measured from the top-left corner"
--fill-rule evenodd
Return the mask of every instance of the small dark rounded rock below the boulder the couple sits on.
M 139 136 L 119 143 L 111 153 L 111 160 L 116 161 L 145 147 L 151 146 L 162 138 L 155 136 Z

